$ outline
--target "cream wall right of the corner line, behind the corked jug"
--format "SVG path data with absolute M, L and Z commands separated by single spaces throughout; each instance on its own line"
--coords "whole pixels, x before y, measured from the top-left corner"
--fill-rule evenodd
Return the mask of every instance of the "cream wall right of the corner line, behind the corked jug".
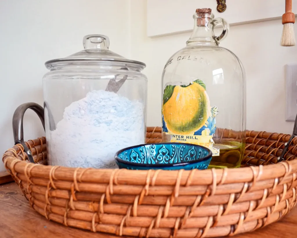
M 174 17 L 166 13 L 166 9 L 164 14 Z M 131 1 L 131 23 L 131 58 L 147 65 L 143 72 L 149 81 L 148 126 L 161 126 L 162 70 L 169 57 L 186 45 L 191 33 L 147 37 L 145 1 Z M 297 24 L 294 27 L 296 34 Z M 281 47 L 281 35 L 281 20 L 266 21 L 231 26 L 227 38 L 220 43 L 233 51 L 244 65 L 249 130 L 293 131 L 293 123 L 285 121 L 284 65 L 297 63 L 297 46 Z

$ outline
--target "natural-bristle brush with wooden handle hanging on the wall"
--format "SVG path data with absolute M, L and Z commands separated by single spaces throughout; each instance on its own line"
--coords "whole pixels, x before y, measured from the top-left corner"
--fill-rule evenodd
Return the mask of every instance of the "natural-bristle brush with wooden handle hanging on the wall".
M 282 15 L 282 39 L 281 46 L 295 46 L 295 35 L 293 24 L 295 23 L 295 14 L 292 12 L 292 0 L 286 0 L 286 13 Z

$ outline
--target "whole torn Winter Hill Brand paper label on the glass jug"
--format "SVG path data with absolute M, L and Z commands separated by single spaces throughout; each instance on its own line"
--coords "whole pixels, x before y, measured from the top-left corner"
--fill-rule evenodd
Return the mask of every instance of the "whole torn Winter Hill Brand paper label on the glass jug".
M 213 156 L 217 107 L 211 107 L 204 82 L 197 79 L 188 85 L 166 85 L 162 104 L 162 127 L 171 135 L 170 142 L 184 142 L 209 148 Z

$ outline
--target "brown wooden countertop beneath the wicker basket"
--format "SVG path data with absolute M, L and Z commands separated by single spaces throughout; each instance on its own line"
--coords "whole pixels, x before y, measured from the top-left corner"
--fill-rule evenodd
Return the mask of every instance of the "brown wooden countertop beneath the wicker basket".
M 297 237 L 297 206 L 282 220 L 251 233 L 235 238 L 279 238 Z M 42 217 L 26 200 L 15 183 L 0 185 L 0 237 L 1 238 L 66 238 L 100 237 L 115 238 L 113 235 L 98 234 L 62 226 Z M 127 238 L 127 237 L 125 237 Z

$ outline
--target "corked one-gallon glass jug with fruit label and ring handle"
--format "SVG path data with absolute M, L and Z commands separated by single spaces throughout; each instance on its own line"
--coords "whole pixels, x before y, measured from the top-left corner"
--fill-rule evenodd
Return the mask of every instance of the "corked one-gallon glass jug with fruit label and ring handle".
M 185 48 L 162 73 L 162 140 L 203 145 L 213 152 L 210 168 L 239 167 L 244 154 L 246 86 L 244 68 L 219 47 L 229 25 L 211 9 L 197 9 Z M 221 24 L 221 35 L 214 26 Z

